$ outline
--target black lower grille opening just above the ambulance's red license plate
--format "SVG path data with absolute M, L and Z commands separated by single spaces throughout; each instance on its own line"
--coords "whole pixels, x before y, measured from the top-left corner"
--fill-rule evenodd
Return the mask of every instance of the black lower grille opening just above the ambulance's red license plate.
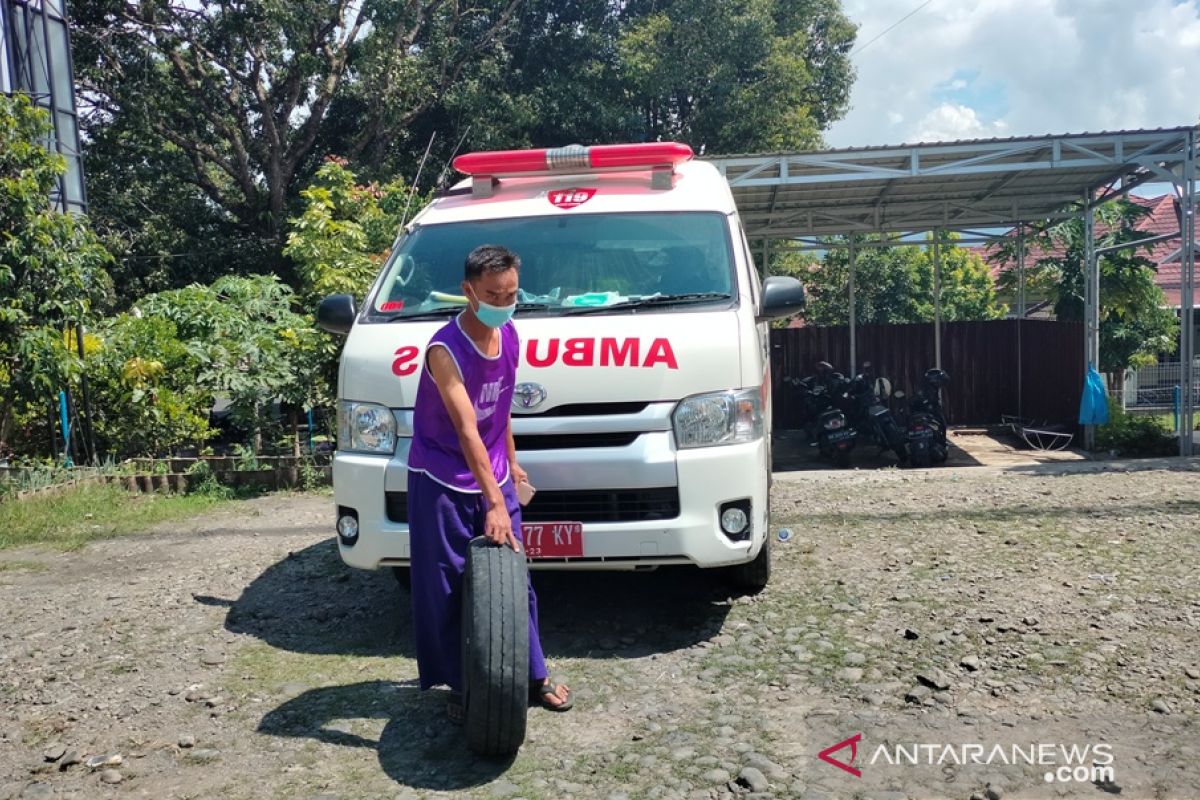
M 389 522 L 408 522 L 408 494 L 384 493 Z M 679 489 L 542 489 L 521 518 L 524 522 L 649 522 L 679 516 Z

